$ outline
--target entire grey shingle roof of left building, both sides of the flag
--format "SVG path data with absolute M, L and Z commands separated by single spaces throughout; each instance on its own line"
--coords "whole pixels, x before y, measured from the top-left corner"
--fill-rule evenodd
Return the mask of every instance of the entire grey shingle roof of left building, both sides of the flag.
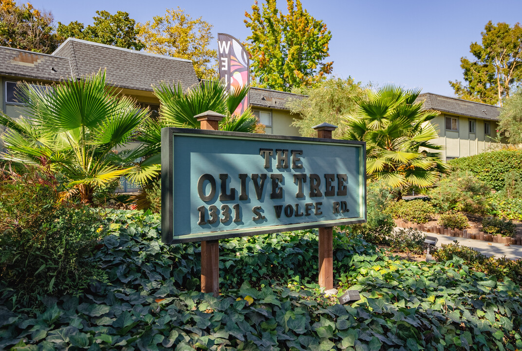
M 17 57 L 19 57 L 17 59 Z M 18 60 L 18 61 L 17 61 Z M 107 81 L 120 88 L 152 91 L 164 80 L 188 88 L 199 83 L 192 61 L 68 38 L 51 55 L 0 46 L 0 74 L 41 80 L 64 80 L 106 69 Z M 251 88 L 253 107 L 289 110 L 287 103 L 306 96 Z

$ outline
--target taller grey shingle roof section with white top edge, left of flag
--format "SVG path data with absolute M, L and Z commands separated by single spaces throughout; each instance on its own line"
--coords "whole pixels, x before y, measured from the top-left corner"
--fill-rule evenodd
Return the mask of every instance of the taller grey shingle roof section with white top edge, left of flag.
M 152 91 L 152 84 L 164 80 L 181 81 L 184 87 L 198 84 L 192 61 L 117 48 L 75 38 L 68 38 L 53 55 L 70 60 L 70 71 L 76 76 L 106 69 L 112 86 Z

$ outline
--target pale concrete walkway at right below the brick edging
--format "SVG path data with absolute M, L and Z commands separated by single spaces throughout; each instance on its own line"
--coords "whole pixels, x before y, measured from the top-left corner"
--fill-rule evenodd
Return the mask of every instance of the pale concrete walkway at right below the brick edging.
M 450 237 L 446 235 L 440 235 L 435 233 L 427 233 L 426 235 L 435 237 L 438 239 L 437 247 L 441 247 L 442 244 L 451 244 L 454 240 L 457 240 L 459 245 L 464 245 L 474 250 L 481 252 L 486 256 L 495 256 L 496 258 L 500 258 L 502 256 L 506 256 L 508 259 L 519 259 L 522 258 L 522 245 L 509 245 L 498 243 L 498 242 L 488 242 L 482 240 L 475 239 L 467 239 L 467 238 L 456 238 Z

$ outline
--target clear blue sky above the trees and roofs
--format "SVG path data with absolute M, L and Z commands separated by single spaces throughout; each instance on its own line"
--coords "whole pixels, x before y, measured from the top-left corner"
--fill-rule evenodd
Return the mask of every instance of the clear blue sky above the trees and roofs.
M 253 0 L 29 1 L 51 11 L 56 22 L 77 20 L 85 25 L 92 24 L 96 10 L 127 11 L 138 22 L 145 22 L 163 15 L 167 7 L 179 6 L 212 24 L 215 38 L 222 32 L 242 41 L 250 33 L 243 23 L 244 13 L 253 4 Z M 302 4 L 333 34 L 329 61 L 334 61 L 336 76 L 447 96 L 454 95 L 448 80 L 462 80 L 460 57 L 470 58 L 469 44 L 481 40 L 485 24 L 489 20 L 510 25 L 522 21 L 520 0 L 302 0 Z M 279 0 L 278 6 L 286 9 L 286 1 Z

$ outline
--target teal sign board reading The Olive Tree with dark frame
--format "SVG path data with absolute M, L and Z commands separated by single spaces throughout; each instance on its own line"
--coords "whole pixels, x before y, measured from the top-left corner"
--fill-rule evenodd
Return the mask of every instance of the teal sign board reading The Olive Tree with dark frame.
M 163 128 L 167 243 L 361 223 L 365 144 Z

